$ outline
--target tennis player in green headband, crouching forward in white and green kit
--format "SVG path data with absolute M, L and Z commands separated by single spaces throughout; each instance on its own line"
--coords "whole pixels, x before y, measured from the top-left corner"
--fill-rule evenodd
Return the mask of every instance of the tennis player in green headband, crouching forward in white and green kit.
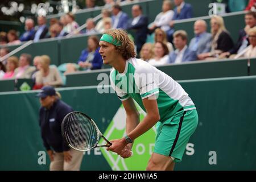
M 134 140 L 157 123 L 155 148 L 146 169 L 173 170 L 196 130 L 196 107 L 176 81 L 136 59 L 134 50 L 124 30 L 108 30 L 100 39 L 99 52 L 103 63 L 113 67 L 110 82 L 126 111 L 126 135 L 110 141 L 107 150 L 128 158 Z M 147 113 L 141 122 L 133 100 Z

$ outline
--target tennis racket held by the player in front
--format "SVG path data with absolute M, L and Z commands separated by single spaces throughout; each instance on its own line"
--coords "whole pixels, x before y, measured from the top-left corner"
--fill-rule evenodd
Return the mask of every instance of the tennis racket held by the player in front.
M 88 151 L 96 147 L 112 145 L 98 129 L 96 123 L 86 114 L 74 111 L 67 114 L 61 123 L 61 134 L 68 146 L 78 151 Z M 98 146 L 100 138 L 106 145 Z

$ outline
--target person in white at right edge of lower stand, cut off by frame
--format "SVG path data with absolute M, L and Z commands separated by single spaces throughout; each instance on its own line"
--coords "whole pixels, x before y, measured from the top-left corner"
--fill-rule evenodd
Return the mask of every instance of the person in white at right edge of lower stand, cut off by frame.
M 256 57 L 256 26 L 248 31 L 250 46 L 243 53 L 244 57 Z

